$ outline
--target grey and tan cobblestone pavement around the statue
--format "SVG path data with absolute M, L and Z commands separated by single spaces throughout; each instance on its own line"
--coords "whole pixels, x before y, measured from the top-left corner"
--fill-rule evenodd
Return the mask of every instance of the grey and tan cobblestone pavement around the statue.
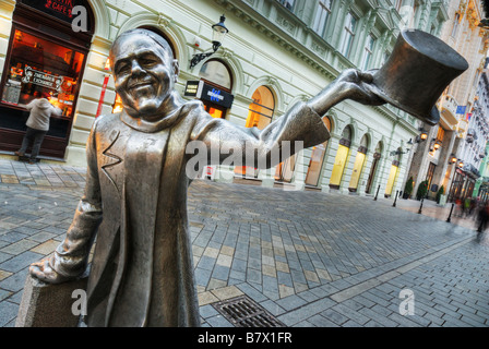
M 63 239 L 83 173 L 0 160 L 0 326 Z M 246 294 L 286 326 L 489 327 L 489 246 L 446 207 L 203 180 L 189 194 L 203 326 L 232 326 L 216 304 Z

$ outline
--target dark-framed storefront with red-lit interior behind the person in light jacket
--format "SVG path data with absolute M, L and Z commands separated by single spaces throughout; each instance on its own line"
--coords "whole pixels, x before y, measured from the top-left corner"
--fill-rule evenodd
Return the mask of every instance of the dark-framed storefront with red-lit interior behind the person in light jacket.
M 72 29 L 75 5 L 87 10 L 86 32 Z M 28 118 L 25 106 L 47 93 L 62 116 L 51 118 L 40 155 L 64 158 L 93 24 L 87 1 L 17 1 L 0 83 L 0 151 L 19 149 Z

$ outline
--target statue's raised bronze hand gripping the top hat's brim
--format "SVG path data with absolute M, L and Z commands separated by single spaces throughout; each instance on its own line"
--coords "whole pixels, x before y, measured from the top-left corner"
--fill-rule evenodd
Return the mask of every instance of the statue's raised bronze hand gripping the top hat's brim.
M 380 106 L 385 100 L 380 98 L 372 88 L 373 71 L 347 69 L 336 79 L 339 93 L 348 99 L 363 105 Z

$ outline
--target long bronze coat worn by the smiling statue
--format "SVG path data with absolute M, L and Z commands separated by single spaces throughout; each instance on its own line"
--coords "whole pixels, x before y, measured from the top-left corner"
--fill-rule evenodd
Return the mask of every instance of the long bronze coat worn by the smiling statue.
M 189 142 L 202 141 L 207 152 L 223 145 L 243 149 L 248 143 L 248 151 L 251 146 L 255 156 L 267 158 L 282 141 L 309 147 L 329 136 L 321 118 L 302 103 L 263 131 L 213 119 L 200 101 L 155 123 L 123 111 L 99 117 L 87 143 L 84 196 L 51 258 L 58 273 L 80 275 L 97 237 L 87 325 L 200 325 L 187 217 Z

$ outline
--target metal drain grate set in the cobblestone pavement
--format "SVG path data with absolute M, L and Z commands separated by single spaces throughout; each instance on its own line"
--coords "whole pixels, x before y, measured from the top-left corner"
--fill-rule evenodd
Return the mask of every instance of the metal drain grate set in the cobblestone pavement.
M 247 296 L 213 303 L 212 306 L 236 327 L 286 327 Z

